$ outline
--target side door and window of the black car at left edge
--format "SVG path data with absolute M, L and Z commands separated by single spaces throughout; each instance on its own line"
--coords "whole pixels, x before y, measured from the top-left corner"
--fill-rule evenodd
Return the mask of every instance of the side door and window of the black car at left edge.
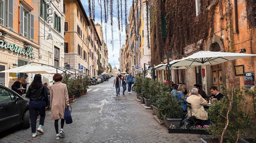
M 0 130 L 18 122 L 18 109 L 7 88 L 0 87 Z

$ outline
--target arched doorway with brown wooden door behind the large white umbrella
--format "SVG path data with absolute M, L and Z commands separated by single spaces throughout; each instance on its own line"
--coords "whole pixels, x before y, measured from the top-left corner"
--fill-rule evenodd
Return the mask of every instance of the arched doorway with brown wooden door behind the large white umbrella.
M 217 42 L 212 43 L 210 46 L 210 50 L 212 52 L 219 52 L 221 51 L 221 47 Z M 212 72 L 212 85 L 219 87 L 219 85 L 223 84 L 223 78 L 222 78 L 222 64 L 212 65 L 211 66 L 211 72 Z

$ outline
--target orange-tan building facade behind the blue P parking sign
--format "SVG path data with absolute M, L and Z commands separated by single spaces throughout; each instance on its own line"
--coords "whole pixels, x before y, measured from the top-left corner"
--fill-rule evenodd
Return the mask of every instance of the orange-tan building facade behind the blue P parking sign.
M 64 65 L 91 75 L 88 29 L 90 21 L 80 0 L 64 0 Z M 89 32 L 90 33 L 90 32 Z

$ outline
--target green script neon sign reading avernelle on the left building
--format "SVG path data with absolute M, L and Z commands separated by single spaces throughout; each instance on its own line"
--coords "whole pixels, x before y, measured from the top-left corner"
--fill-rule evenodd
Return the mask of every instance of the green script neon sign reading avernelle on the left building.
M 0 32 L 0 35 L 2 33 Z M 8 49 L 12 52 L 19 53 L 25 56 L 29 56 L 31 58 L 35 58 L 35 53 L 33 53 L 34 47 L 27 47 L 26 49 L 23 49 L 21 47 L 16 46 L 15 44 L 9 44 L 9 42 L 0 40 L 0 47 L 3 49 Z

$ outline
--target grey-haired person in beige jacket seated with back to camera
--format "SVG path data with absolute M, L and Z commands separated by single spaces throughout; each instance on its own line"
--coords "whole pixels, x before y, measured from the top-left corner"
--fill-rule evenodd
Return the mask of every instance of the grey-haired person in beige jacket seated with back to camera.
M 208 120 L 208 114 L 203 106 L 207 105 L 207 102 L 200 94 L 198 94 L 197 88 L 191 90 L 191 96 L 187 97 L 186 102 L 191 104 L 192 116 L 200 120 Z M 190 108 L 187 108 L 187 115 L 188 117 L 191 117 Z

